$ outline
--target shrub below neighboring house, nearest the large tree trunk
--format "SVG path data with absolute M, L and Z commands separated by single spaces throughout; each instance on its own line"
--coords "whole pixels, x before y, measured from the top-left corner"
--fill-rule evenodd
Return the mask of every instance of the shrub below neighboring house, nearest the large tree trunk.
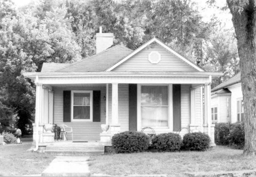
M 229 146 L 236 149 L 244 148 L 244 123 L 232 123 L 229 131 Z

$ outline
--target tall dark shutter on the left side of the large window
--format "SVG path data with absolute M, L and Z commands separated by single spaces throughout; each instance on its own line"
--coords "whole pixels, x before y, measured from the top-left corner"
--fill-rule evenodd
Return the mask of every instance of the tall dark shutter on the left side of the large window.
M 137 84 L 129 84 L 129 130 L 137 131 Z

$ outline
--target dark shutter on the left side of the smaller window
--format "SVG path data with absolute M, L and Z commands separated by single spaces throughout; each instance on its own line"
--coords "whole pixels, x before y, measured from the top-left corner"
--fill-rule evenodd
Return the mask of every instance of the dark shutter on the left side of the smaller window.
M 71 91 L 63 91 L 63 122 L 71 120 Z

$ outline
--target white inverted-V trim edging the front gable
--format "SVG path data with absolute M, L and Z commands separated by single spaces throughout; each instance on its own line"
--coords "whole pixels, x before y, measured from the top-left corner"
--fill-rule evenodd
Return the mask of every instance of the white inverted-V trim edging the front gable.
M 164 44 L 164 42 L 160 41 L 159 39 L 157 39 L 156 37 L 152 38 L 151 40 L 149 40 L 148 42 L 146 42 L 145 44 L 143 44 L 142 46 L 140 46 L 139 48 L 137 48 L 136 50 L 134 50 L 132 53 L 130 53 L 129 55 L 125 56 L 124 58 L 122 58 L 121 60 L 117 61 L 116 63 L 114 63 L 113 65 L 111 65 L 106 71 L 111 71 L 114 68 L 116 68 L 117 66 L 119 66 L 120 64 L 124 63 L 125 61 L 127 61 L 129 58 L 131 58 L 133 55 L 137 54 L 138 52 L 140 52 L 142 49 L 146 48 L 147 46 L 149 46 L 150 44 L 152 44 L 153 42 L 156 42 L 157 44 L 159 44 L 160 46 L 162 46 L 163 48 L 165 48 L 167 51 L 171 52 L 173 55 L 175 55 L 176 57 L 180 58 L 181 60 L 183 60 L 185 63 L 188 63 L 190 66 L 192 66 L 193 68 L 195 68 L 198 71 L 204 71 L 202 68 L 198 67 L 195 63 L 191 62 L 190 60 L 188 60 L 186 57 L 182 56 L 180 53 L 178 53 L 177 51 L 175 51 L 173 48 L 167 46 L 166 44 Z

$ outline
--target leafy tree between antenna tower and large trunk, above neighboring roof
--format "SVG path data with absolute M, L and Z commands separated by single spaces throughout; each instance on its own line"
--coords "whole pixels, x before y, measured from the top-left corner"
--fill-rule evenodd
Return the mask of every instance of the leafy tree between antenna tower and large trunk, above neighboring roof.
M 203 68 L 207 71 L 218 71 L 223 76 L 212 80 L 212 88 L 228 80 L 237 74 L 239 58 L 237 54 L 236 39 L 231 29 L 223 29 L 221 26 L 213 28 L 208 41 L 204 41 Z

